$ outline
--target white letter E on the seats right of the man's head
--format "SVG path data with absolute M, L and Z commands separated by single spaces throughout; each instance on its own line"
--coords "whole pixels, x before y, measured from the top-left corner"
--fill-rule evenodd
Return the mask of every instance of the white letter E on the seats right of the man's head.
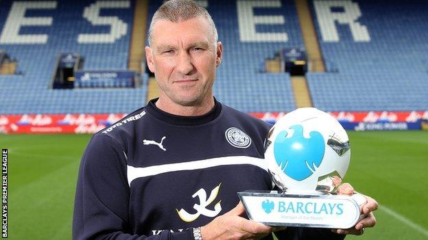
M 254 16 L 253 8 L 281 8 L 281 1 L 237 1 L 239 39 L 241 42 L 288 42 L 288 35 L 258 33 L 257 24 L 284 24 L 284 16 Z

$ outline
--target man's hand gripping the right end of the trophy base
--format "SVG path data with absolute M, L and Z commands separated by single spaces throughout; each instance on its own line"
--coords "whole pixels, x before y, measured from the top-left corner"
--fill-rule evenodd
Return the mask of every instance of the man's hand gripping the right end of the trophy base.
M 340 195 L 352 195 L 354 194 L 354 188 L 349 183 L 344 183 L 337 188 L 337 194 Z M 363 194 L 361 194 L 363 195 Z M 372 211 L 376 211 L 379 204 L 377 204 L 376 200 L 370 198 L 369 196 L 363 195 L 366 197 L 366 204 L 361 206 L 361 214 L 364 215 L 364 219 L 361 219 L 353 228 L 348 229 L 333 229 L 333 232 L 338 234 L 347 235 L 362 235 L 364 233 L 364 228 L 372 228 L 376 224 L 375 215 L 373 215 Z

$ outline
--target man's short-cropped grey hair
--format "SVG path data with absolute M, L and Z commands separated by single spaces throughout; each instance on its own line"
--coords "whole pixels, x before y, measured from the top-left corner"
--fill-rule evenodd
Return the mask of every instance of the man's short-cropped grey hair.
M 211 26 L 211 33 L 213 34 L 215 42 L 218 40 L 217 28 L 211 15 L 202 8 L 198 3 L 193 0 L 170 0 L 161 5 L 153 15 L 152 22 L 149 28 L 149 45 L 152 45 L 153 27 L 158 20 L 167 20 L 173 23 L 187 21 L 190 18 L 203 16 L 208 20 Z

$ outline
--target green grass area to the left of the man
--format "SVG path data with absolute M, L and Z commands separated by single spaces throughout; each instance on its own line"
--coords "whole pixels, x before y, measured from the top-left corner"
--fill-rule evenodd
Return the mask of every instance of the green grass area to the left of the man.
M 0 135 L 9 149 L 10 239 L 71 239 L 80 157 L 89 135 Z

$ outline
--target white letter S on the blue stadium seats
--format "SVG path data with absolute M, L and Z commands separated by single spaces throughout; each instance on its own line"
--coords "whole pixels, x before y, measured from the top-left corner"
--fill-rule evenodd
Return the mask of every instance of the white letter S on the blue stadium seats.
M 99 16 L 102 8 L 130 8 L 130 1 L 97 1 L 84 9 L 83 17 L 95 26 L 110 25 L 109 34 L 79 34 L 79 43 L 113 43 L 126 35 L 128 24 L 117 16 Z

